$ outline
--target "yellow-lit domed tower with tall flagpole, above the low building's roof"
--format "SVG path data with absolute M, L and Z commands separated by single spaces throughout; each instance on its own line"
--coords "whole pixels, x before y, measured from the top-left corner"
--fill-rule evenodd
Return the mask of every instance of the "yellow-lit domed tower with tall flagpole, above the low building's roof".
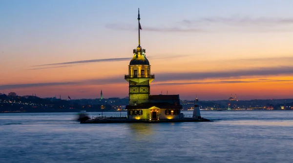
M 140 41 L 140 14 L 138 9 L 138 46 L 133 49 L 133 58 L 128 65 L 128 75 L 125 80 L 129 82 L 129 105 L 148 102 L 149 83 L 155 79 L 150 75 L 150 65 L 146 59 L 146 49 L 142 49 Z

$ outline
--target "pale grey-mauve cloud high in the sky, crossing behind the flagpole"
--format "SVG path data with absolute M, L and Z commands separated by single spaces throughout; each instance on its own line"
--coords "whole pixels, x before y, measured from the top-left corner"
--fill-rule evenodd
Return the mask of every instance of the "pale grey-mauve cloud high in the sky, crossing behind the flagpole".
M 150 32 L 193 32 L 193 33 L 211 33 L 211 32 L 232 32 L 232 31 L 256 31 L 256 32 L 287 32 L 293 31 L 290 25 L 293 24 L 293 18 L 251 18 L 251 17 L 204 17 L 192 20 L 181 20 L 173 24 L 163 24 L 159 27 L 143 26 L 143 30 Z M 222 26 L 221 25 L 226 25 Z M 289 26 L 288 28 L 278 28 Z M 131 24 L 106 24 L 106 28 L 113 30 L 137 31 Z M 216 27 L 216 28 L 215 28 Z M 250 28 L 249 28 L 250 27 Z

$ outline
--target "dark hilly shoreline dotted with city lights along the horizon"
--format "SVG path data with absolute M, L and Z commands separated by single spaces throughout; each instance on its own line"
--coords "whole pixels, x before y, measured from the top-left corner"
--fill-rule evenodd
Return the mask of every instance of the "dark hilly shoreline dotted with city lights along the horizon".
M 128 98 L 61 100 L 39 98 L 37 96 L 18 96 L 14 92 L 0 94 L 0 113 L 13 112 L 101 112 L 124 111 Z M 194 107 L 194 101 L 181 101 L 184 110 Z M 248 101 L 200 101 L 200 108 L 205 110 L 293 110 L 293 99 L 248 100 Z

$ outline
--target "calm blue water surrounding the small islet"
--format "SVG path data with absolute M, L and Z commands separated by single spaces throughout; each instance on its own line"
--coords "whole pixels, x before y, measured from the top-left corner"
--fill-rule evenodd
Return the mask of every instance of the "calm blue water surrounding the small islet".
M 0 114 L 0 163 L 293 162 L 293 111 L 202 111 L 214 122 L 155 124 L 80 124 L 74 116 Z

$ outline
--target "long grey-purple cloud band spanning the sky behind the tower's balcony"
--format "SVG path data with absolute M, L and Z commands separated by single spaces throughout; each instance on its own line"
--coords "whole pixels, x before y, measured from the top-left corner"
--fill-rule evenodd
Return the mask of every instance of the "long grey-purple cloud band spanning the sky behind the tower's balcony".
M 249 70 L 228 70 L 228 71 L 212 71 L 212 72 L 189 72 L 189 73 L 156 73 L 156 79 L 153 84 L 159 85 L 175 85 L 175 84 L 213 84 L 213 83 L 244 83 L 244 82 L 293 82 L 293 80 L 270 80 L 262 79 L 264 77 L 278 75 L 293 75 L 293 67 L 266 67 L 255 68 Z M 243 78 L 261 78 L 253 81 L 241 81 L 230 79 Z M 222 80 L 220 80 L 222 79 Z M 180 82 L 180 81 L 202 81 L 202 80 L 218 80 L 215 82 Z M 220 80 L 220 81 L 219 81 Z M 175 82 L 176 81 L 176 82 Z M 54 85 L 72 85 L 72 84 L 88 84 L 88 85 L 107 85 L 126 83 L 123 75 L 117 75 L 105 79 L 87 79 L 75 82 L 47 82 L 47 83 L 21 83 L 0 85 L 0 90 L 27 88 L 27 87 L 44 87 Z

